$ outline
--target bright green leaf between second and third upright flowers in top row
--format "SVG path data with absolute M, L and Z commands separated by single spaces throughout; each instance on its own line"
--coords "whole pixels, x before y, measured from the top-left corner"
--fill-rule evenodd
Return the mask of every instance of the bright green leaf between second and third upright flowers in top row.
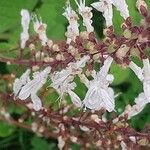
M 47 34 L 52 39 L 62 39 L 65 36 L 67 20 L 62 13 L 64 12 L 65 1 L 44 0 L 44 4 L 38 10 L 44 23 L 47 24 Z

